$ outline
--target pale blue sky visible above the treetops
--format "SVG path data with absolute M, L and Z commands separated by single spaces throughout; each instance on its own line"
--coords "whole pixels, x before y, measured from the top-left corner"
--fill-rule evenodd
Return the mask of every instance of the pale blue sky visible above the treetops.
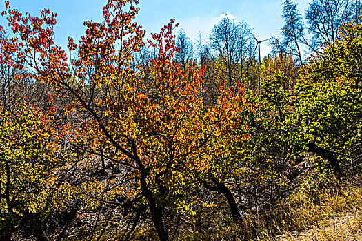
M 295 2 L 303 13 L 307 0 Z M 106 0 L 10 0 L 10 6 L 20 12 L 39 14 L 43 8 L 57 12 L 56 42 L 63 47 L 67 45 L 68 36 L 79 39 L 85 30 L 84 21 L 101 20 L 101 9 L 105 3 Z M 281 32 L 281 3 L 283 0 L 140 0 L 137 22 L 149 34 L 159 32 L 174 18 L 179 23 L 179 30 L 182 28 L 190 39 L 196 40 L 199 32 L 206 39 L 212 26 L 228 14 L 232 19 L 249 23 L 259 39 L 268 39 Z M 3 3 L 1 10 L 4 6 Z M 0 19 L 0 24 L 5 25 L 6 20 Z M 268 54 L 268 46 L 261 47 L 262 56 Z

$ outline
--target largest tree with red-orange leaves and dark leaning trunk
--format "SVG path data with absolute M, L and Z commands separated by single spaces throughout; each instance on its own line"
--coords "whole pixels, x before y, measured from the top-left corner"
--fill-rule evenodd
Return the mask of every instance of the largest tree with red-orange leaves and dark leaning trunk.
M 243 109 L 243 92 L 240 85 L 234 92 L 221 85 L 217 105 L 203 106 L 198 92 L 204 69 L 192 65 L 182 70 L 172 61 L 179 51 L 173 20 L 148 41 L 158 53 L 145 78 L 145 68 L 134 62 L 134 53 L 145 45 L 145 32 L 134 22 L 137 3 L 109 0 L 101 23 L 86 21 L 86 35 L 79 44 L 69 39 L 68 48 L 76 56 L 70 65 L 53 41 L 57 14 L 43 10 L 41 17 L 22 17 L 8 2 L 3 14 L 19 36 L 8 40 L 17 56 L 12 65 L 33 70 L 34 81 L 55 85 L 73 98 L 64 112 L 81 118 L 72 145 L 119 165 L 130 182 L 120 185 L 116 177 L 81 183 L 88 193 L 101 190 L 89 196 L 89 202 L 97 205 L 104 198 L 121 196 L 143 203 L 159 238 L 168 240 L 163 209 L 191 210 L 187 201 L 192 199 L 190 190 L 197 188 L 194 175 L 210 169 L 205 156 L 213 148 L 210 140 L 228 140 L 230 130 L 239 127 L 230 120 Z

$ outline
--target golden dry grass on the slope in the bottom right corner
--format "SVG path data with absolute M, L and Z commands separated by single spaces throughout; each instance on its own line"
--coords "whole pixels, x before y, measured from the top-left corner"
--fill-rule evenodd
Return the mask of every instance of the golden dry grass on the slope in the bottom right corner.
M 315 185 L 304 177 L 306 182 L 289 198 L 280 200 L 274 209 L 249 213 L 239 225 L 221 224 L 209 217 L 214 225 L 203 231 L 186 225 L 190 229 L 177 240 L 362 241 L 362 177 L 323 178 Z

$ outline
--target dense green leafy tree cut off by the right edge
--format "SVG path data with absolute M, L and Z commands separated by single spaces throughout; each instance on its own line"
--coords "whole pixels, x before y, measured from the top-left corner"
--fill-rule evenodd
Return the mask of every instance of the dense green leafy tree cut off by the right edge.
M 343 25 L 338 39 L 305 67 L 296 89 L 301 146 L 327 159 L 339 176 L 360 158 L 360 28 Z

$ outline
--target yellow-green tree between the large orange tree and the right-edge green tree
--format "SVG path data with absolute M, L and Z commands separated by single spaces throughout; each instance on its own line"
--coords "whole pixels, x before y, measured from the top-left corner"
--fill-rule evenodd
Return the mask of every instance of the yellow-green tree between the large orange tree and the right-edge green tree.
M 243 121 L 248 123 L 246 131 L 250 138 L 237 142 L 234 150 L 237 160 L 249 170 L 240 176 L 239 196 L 254 190 L 254 203 L 269 209 L 270 216 L 293 155 L 290 133 L 295 132 L 295 127 L 290 117 L 293 105 L 290 83 L 292 79 L 276 67 L 261 75 L 259 90 L 248 90 L 248 100 L 254 108 L 245 112 Z

